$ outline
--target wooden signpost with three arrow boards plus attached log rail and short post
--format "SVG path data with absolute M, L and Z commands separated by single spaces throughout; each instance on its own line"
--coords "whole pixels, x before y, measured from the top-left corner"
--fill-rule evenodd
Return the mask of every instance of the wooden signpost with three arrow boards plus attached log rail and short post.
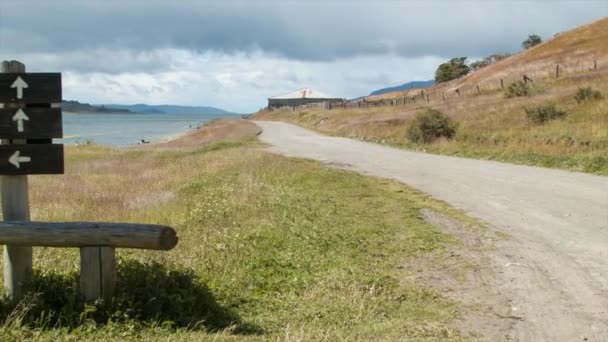
M 30 222 L 27 175 L 63 174 L 61 74 L 26 73 L 17 61 L 0 70 L 0 193 L 4 222 L 4 287 L 23 296 L 32 276 L 32 247 L 80 248 L 80 289 L 87 301 L 112 300 L 114 248 L 170 250 L 175 230 L 166 226 L 103 222 Z

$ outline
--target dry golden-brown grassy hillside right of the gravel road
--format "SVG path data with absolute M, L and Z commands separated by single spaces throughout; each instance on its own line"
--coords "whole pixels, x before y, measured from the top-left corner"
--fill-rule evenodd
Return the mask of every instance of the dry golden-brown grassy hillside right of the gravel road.
M 597 70 L 589 69 L 593 60 Z M 555 64 L 566 62 L 584 68 L 562 67 L 560 77 L 555 78 Z M 508 88 L 523 74 L 534 79 L 531 94 L 506 98 L 500 79 Z M 580 87 L 592 87 L 604 99 L 579 104 L 574 96 Z M 460 89 L 461 96 L 454 89 Z M 419 93 L 411 90 L 381 98 L 402 99 Z M 427 152 L 608 174 L 608 19 L 562 33 L 462 79 L 425 89 L 425 94 L 428 102 L 419 98 L 416 103 L 396 106 L 264 111 L 256 118 L 290 121 L 327 134 Z M 551 103 L 567 111 L 567 116 L 544 125 L 527 118 L 525 108 Z M 414 144 L 408 139 L 413 118 L 427 108 L 440 110 L 458 123 L 452 140 Z

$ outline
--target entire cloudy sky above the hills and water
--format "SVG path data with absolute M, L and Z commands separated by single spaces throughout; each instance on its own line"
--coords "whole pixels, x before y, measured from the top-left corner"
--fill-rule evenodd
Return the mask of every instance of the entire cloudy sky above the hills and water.
M 352 98 L 517 52 L 606 0 L 0 0 L 0 59 L 63 72 L 64 97 L 252 112 L 313 87 Z

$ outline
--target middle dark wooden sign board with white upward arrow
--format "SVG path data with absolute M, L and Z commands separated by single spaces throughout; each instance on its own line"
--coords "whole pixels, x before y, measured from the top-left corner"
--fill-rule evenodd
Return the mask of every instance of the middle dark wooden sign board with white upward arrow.
M 61 109 L 0 109 L 0 138 L 52 139 L 63 137 Z

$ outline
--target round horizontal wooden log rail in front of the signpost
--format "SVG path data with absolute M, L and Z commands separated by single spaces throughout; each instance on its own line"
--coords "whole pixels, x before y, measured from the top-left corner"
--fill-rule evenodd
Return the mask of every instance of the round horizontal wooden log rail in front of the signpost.
M 3 222 L 0 244 L 46 247 L 110 246 L 170 250 L 177 245 L 171 227 L 103 222 Z

